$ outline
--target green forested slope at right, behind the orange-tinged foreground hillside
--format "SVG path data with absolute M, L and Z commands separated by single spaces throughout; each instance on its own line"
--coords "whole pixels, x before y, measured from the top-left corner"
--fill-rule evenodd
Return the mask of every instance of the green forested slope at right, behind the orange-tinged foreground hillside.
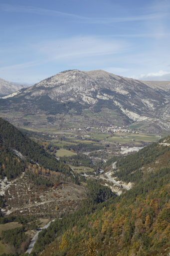
M 116 162 L 118 170 L 112 176 L 127 183 L 137 184 L 142 177 L 146 178 L 148 168 L 151 172 L 170 166 L 170 144 L 167 143 L 169 139 L 170 136 L 144 147 L 135 154 L 120 157 Z M 164 141 L 166 143 L 163 143 Z

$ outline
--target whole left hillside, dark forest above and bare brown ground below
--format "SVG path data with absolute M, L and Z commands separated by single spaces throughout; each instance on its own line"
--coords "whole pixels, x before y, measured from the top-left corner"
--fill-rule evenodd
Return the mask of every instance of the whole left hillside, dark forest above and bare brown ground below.
M 74 179 L 68 165 L 0 118 L 0 216 L 73 211 L 87 191 Z

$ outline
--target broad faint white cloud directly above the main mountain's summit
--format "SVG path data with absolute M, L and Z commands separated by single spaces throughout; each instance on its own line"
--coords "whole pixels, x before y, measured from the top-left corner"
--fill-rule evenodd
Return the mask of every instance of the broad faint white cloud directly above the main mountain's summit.
M 74 37 L 37 44 L 36 50 L 50 60 L 73 60 L 83 57 L 103 56 L 125 52 L 130 44 L 124 40 L 103 40 L 97 37 Z

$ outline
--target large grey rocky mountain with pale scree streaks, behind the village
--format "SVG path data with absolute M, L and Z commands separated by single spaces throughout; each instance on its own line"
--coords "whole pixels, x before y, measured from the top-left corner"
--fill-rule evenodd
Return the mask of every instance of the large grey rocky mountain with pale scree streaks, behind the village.
M 127 121 L 144 122 L 157 132 L 170 131 L 170 81 L 140 81 L 103 70 L 66 70 L 0 99 L 0 109 L 80 114 L 102 107 Z

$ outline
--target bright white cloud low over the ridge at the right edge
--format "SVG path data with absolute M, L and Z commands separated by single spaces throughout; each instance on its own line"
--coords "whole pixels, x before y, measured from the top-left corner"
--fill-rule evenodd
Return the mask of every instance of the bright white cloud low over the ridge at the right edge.
M 141 74 L 139 76 L 132 75 L 130 78 L 138 80 L 156 80 L 156 81 L 169 81 L 170 80 L 170 71 L 160 70 L 158 72 L 151 72 L 148 74 Z

